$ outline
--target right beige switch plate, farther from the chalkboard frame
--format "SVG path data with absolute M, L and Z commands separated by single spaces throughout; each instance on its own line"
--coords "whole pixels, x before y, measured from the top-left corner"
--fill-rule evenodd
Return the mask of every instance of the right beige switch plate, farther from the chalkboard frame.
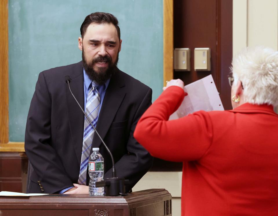
M 194 49 L 194 70 L 211 70 L 211 49 L 195 48 Z

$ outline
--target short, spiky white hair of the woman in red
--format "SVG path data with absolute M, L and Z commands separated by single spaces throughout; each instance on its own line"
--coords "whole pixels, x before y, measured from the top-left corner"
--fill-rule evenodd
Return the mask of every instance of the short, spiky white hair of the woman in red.
M 244 100 L 278 105 L 278 52 L 264 46 L 247 47 L 232 62 L 235 84 L 242 82 Z

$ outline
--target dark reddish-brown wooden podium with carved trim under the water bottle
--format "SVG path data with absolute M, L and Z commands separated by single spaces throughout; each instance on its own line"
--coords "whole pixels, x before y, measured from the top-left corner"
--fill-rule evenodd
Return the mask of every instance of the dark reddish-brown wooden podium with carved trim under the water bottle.
M 0 215 L 20 216 L 147 216 L 172 215 L 171 194 L 149 189 L 124 197 L 87 194 L 51 194 L 31 197 L 0 197 Z

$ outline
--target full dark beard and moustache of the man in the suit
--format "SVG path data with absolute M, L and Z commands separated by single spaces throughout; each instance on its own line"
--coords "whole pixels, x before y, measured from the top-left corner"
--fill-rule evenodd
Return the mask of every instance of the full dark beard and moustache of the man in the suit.
M 85 69 L 86 74 L 90 78 L 90 80 L 94 81 L 98 85 L 104 84 L 107 79 L 111 77 L 116 72 L 117 64 L 119 60 L 119 52 L 117 54 L 117 58 L 115 63 L 112 62 L 112 59 L 110 56 L 99 56 L 94 59 L 92 59 L 91 62 L 87 62 L 84 56 L 84 51 L 82 51 L 82 61 L 83 61 L 83 67 Z M 94 66 L 99 61 L 106 61 L 108 63 L 107 68 L 99 67 L 98 71 L 94 70 Z

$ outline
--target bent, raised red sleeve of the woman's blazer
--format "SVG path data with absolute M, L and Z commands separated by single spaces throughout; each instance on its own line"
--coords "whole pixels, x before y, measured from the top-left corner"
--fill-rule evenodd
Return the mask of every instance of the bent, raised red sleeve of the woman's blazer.
M 200 159 L 211 145 L 209 113 L 198 111 L 168 120 L 184 99 L 184 90 L 168 87 L 140 118 L 134 137 L 152 156 L 168 161 Z

